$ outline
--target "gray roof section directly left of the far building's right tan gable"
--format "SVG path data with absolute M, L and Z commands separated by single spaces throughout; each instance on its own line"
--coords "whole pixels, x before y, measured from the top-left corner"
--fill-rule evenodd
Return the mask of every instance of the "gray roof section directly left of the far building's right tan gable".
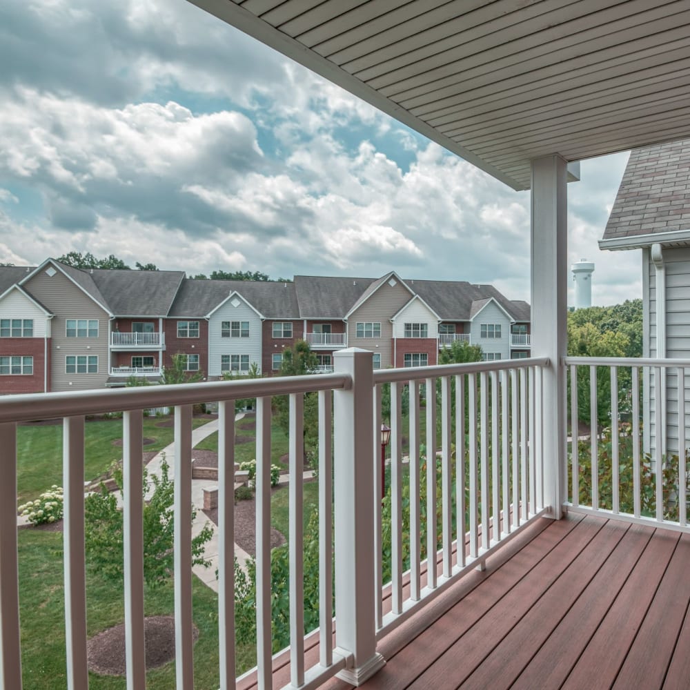
M 375 282 L 374 278 L 295 275 L 299 315 L 303 319 L 342 319 Z

